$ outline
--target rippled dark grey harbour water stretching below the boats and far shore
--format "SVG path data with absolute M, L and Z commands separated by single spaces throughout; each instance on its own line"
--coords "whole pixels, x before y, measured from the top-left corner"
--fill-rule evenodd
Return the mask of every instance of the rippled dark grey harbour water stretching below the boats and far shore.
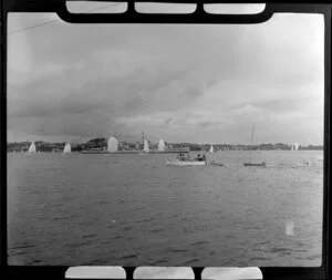
M 9 263 L 320 266 L 322 152 L 261 155 L 8 154 Z

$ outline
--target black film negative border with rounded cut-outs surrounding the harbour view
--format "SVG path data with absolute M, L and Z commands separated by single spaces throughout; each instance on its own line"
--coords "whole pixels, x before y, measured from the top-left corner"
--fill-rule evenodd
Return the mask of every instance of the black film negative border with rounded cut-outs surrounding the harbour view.
M 98 0 L 98 2 L 107 0 Z M 261 267 L 263 279 L 329 279 L 330 246 L 330 204 L 331 204 L 331 12 L 332 4 L 303 3 L 289 4 L 282 1 L 221 1 L 221 0 L 139 0 L 136 2 L 196 3 L 196 11 L 188 14 L 143 14 L 135 11 L 135 1 L 127 2 L 127 10 L 120 14 L 108 13 L 70 13 L 65 0 L 3 0 L 1 17 L 1 274 L 9 279 L 64 279 L 69 267 L 28 267 L 8 266 L 7 262 L 7 17 L 9 12 L 54 12 L 61 20 L 70 23 L 215 23 L 215 24 L 255 24 L 268 21 L 273 13 L 318 13 L 324 17 L 324 179 L 323 179 L 323 239 L 321 267 Z M 266 9 L 257 14 L 211 14 L 204 10 L 205 3 L 266 3 Z M 124 267 L 126 279 L 133 279 L 134 267 Z M 193 268 L 195 279 L 201 279 L 203 267 Z M 4 279 L 4 278 L 2 278 Z

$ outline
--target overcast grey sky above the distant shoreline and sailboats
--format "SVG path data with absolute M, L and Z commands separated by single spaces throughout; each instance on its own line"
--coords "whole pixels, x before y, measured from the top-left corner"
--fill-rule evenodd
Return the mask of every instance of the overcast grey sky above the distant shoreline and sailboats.
M 105 9 L 105 11 L 107 11 Z M 55 14 L 11 14 L 9 32 Z M 8 37 L 8 141 L 323 143 L 323 18 L 51 24 Z

